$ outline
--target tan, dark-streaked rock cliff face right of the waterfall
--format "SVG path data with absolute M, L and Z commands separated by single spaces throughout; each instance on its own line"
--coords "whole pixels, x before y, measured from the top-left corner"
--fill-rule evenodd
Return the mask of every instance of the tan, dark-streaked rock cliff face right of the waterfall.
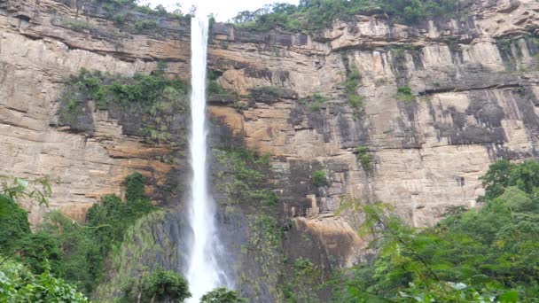
M 316 198 L 320 211 L 348 195 L 432 225 L 448 206 L 473 206 L 491 161 L 535 156 L 538 9 L 535 1 L 477 1 L 466 17 L 414 27 L 357 16 L 316 37 L 215 27 L 210 60 L 224 87 L 246 94 L 277 86 L 328 100 L 309 111 L 295 97 L 246 96 L 252 105 L 243 113 L 214 112 L 247 145 L 275 155 L 285 175 L 301 174 L 299 163 L 321 164 L 332 186 Z M 351 66 L 361 74 L 359 116 L 345 97 Z M 356 160 L 357 146 L 374 156 L 371 170 Z M 316 193 L 283 184 L 285 197 Z

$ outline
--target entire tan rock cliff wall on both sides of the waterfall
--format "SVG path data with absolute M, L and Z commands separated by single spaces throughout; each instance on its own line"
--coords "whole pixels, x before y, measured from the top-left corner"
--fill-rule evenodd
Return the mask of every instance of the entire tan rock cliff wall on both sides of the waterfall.
M 448 206 L 474 206 L 478 178 L 493 160 L 536 156 L 539 4 L 478 0 L 468 9 L 410 27 L 359 15 L 316 36 L 213 26 L 208 67 L 234 94 L 212 98 L 212 145 L 269 152 L 268 183 L 279 194 L 272 215 L 285 229 L 276 247 L 290 260 L 325 269 L 362 260 L 361 214 L 344 207 L 355 198 L 432 225 Z M 133 170 L 150 177 L 156 201 L 166 199 L 160 189 L 170 179 L 189 175 L 184 158 L 164 160 L 183 147 L 148 144 L 105 111 L 91 111 L 92 134 L 58 126 L 64 79 L 82 67 L 148 73 L 163 60 L 167 74 L 189 79 L 188 21 L 152 17 L 155 27 L 134 31 L 129 24 L 146 17 L 129 18 L 115 26 L 84 1 L 0 0 L 0 173 L 58 180 L 51 207 L 74 218 L 103 194 L 121 194 Z M 351 78 L 360 104 L 350 102 Z M 215 185 L 226 183 L 218 173 L 227 168 L 214 162 Z M 329 183 L 314 185 L 315 171 Z M 229 204 L 221 189 L 215 199 Z M 239 254 L 260 218 L 255 206 L 232 208 L 223 206 L 219 218 L 224 245 Z M 34 222 L 45 211 L 28 210 Z M 246 253 L 230 270 L 254 268 L 242 281 L 269 276 L 262 290 L 244 291 L 270 301 L 282 264 L 257 258 Z

